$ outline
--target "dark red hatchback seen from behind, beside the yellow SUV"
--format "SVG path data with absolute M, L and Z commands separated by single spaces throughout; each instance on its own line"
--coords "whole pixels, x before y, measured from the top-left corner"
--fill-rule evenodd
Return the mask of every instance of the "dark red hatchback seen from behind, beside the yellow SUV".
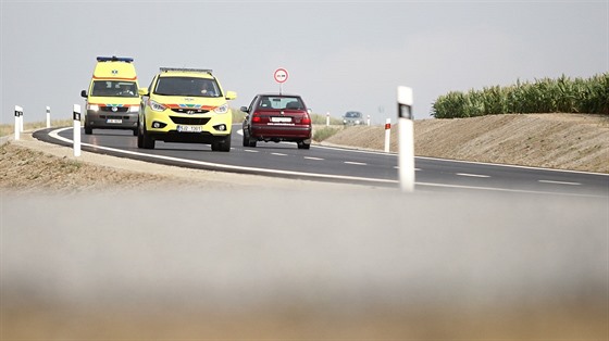
M 244 121 L 244 147 L 256 147 L 258 141 L 291 141 L 298 149 L 311 148 L 310 111 L 297 94 L 257 94 Z

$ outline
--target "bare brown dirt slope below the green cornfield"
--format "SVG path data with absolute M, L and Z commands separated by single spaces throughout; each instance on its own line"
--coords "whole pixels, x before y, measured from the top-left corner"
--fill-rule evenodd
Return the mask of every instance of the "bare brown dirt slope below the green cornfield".
M 349 127 L 326 142 L 384 149 L 384 127 Z M 609 173 L 609 116 L 496 115 L 414 122 L 414 152 L 446 157 L 558 169 Z M 390 151 L 397 152 L 397 127 Z

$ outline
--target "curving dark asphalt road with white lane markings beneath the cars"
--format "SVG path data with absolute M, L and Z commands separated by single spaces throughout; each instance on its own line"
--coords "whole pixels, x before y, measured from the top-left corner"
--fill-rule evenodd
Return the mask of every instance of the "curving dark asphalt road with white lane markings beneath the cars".
M 208 144 L 164 143 L 154 150 L 137 148 L 128 130 L 82 131 L 82 149 L 176 166 L 398 187 L 395 153 L 311 146 L 299 150 L 296 143 L 260 142 L 257 148 L 241 146 L 239 127 L 234 126 L 229 153 L 212 152 Z M 39 130 L 34 136 L 52 143 L 72 146 L 72 128 Z M 532 167 L 506 166 L 415 159 L 417 190 L 476 190 L 609 197 L 609 176 Z

